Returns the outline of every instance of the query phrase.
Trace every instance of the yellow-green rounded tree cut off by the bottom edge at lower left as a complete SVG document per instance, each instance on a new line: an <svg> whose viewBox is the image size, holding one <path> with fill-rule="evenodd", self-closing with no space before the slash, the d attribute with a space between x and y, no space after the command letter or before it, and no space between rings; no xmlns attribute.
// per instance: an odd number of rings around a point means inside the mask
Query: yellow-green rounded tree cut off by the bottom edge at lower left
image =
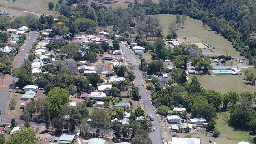
<svg viewBox="0 0 256 144"><path fill-rule="evenodd" d="M34 144L37 141L36 132L30 127L21 127L13 133L5 144Z"/></svg>

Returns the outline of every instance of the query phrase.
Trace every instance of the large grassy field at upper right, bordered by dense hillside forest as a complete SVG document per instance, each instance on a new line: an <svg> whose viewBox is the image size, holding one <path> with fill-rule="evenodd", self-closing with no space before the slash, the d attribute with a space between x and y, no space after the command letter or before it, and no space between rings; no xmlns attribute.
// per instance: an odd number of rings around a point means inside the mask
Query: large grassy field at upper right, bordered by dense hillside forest
<svg viewBox="0 0 256 144"><path fill-rule="evenodd" d="M169 31L170 21L174 21L176 15L157 15L163 26L163 35L166 36ZM227 54L233 57L241 57L239 52L236 51L231 42L226 40L224 37L216 34L214 31L210 31L209 28L206 30L202 27L202 21L194 20L193 18L187 17L184 28L180 28L177 31L178 38L181 42L186 43L200 43L202 41L210 44L211 47L215 47L215 54ZM183 39L186 36L187 39Z"/></svg>

